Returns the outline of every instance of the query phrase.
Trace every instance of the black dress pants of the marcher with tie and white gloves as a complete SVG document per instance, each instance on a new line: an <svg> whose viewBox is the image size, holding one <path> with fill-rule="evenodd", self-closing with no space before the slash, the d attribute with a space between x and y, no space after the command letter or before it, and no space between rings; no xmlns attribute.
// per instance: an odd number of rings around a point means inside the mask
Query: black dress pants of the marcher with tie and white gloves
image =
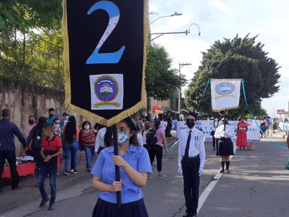
<svg viewBox="0 0 289 217"><path fill-rule="evenodd" d="M197 215L199 203L199 185L200 185L200 158L198 157L188 161L181 160L181 166L184 176L184 195L186 200L186 213L189 216Z"/></svg>

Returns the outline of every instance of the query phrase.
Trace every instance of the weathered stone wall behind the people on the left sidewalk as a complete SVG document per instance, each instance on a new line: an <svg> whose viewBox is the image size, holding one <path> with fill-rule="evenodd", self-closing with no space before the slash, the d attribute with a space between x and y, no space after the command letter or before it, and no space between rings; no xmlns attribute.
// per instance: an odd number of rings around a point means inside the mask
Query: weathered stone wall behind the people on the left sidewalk
<svg viewBox="0 0 289 217"><path fill-rule="evenodd" d="M64 91L0 76L0 109L1 111L4 108L11 110L11 121L19 127L21 132L23 132L24 125L28 124L29 115L34 115L36 120L40 116L47 117L48 109L51 107L55 108L59 115L62 115L64 111L75 115L77 125L80 126L86 118L67 111L64 108L64 98ZM16 155L19 155L20 142L17 138L15 138L15 146Z"/></svg>

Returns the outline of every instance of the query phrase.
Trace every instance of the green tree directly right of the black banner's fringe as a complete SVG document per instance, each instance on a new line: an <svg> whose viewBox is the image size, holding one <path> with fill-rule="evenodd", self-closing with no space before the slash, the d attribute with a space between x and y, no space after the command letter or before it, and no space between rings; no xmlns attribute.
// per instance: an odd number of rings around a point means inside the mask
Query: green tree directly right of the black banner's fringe
<svg viewBox="0 0 289 217"><path fill-rule="evenodd" d="M145 81L147 95L158 100L167 100L173 96L176 87L182 87L187 80L179 77L176 69L171 68L172 59L166 49L160 45L147 45L147 66Z"/></svg>

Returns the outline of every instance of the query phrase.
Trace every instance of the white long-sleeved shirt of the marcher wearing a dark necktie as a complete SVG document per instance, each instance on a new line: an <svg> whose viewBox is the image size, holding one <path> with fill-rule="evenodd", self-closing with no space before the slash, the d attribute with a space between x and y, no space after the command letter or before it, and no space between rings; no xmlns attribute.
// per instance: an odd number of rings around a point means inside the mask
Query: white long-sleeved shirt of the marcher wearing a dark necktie
<svg viewBox="0 0 289 217"><path fill-rule="evenodd" d="M190 132L190 128L187 128L180 132L179 158L178 158L179 167L181 167L181 160L185 156L185 150L186 150L189 132ZM198 148L195 147L195 142L198 143ZM204 167L204 164L206 161L206 153L205 153L205 146L204 146L204 141L203 141L203 132L201 132L201 130L198 130L196 128L192 128L190 147L189 147L189 157L195 157L197 155L200 155L200 167Z"/></svg>

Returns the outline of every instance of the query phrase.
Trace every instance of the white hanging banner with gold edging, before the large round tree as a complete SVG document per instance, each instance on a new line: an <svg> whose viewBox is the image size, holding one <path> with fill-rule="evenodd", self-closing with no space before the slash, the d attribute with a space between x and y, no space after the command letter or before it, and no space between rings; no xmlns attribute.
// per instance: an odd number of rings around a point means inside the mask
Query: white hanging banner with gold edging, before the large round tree
<svg viewBox="0 0 289 217"><path fill-rule="evenodd" d="M239 107L242 79L211 79L212 110L219 112Z"/></svg>

